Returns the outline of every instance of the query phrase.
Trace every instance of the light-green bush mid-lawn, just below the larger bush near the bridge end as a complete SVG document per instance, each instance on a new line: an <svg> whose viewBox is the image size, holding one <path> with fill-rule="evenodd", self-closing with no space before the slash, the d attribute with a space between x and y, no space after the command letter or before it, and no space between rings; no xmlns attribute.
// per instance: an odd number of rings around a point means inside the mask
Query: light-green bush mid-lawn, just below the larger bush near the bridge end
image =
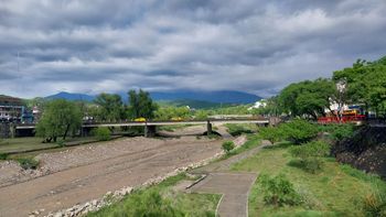
<svg viewBox="0 0 386 217"><path fill-rule="evenodd" d="M330 144L322 141L313 141L301 147L291 147L289 152L292 156L300 159L302 169L310 173L317 173L323 169L321 158L330 154Z"/></svg>

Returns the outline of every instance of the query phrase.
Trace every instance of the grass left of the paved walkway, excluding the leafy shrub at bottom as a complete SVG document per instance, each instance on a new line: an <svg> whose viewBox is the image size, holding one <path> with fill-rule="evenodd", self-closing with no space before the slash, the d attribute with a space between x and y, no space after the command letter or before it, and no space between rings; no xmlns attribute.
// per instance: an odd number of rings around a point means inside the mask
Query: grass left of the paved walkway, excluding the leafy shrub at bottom
<svg viewBox="0 0 386 217"><path fill-rule="evenodd" d="M149 195L152 194L161 195L163 200L168 202L172 208L181 210L184 216L214 217L221 196L213 194L185 194L173 189L173 186L183 180L189 180L189 177L184 174L180 174L167 178L158 185L144 189L138 189L118 203L104 207L98 211L89 213L87 217L136 216L136 211L141 208L141 206L144 204L149 206L149 202L147 200L151 199L149 198ZM158 203L161 204L160 200Z"/></svg>

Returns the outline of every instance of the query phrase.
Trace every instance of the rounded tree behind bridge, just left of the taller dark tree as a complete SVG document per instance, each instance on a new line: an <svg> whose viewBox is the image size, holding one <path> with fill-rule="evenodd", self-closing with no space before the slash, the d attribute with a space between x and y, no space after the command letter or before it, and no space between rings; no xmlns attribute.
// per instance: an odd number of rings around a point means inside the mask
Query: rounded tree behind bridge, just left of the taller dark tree
<svg viewBox="0 0 386 217"><path fill-rule="evenodd" d="M101 121L119 121L124 117L124 102L119 95L100 94L94 100L98 105L97 119Z"/></svg>

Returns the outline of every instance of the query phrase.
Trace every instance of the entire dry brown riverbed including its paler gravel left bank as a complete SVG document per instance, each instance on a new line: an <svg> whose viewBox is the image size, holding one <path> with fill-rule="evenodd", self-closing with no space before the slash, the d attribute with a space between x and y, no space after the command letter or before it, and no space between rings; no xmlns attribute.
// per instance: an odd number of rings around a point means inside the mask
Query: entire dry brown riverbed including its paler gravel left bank
<svg viewBox="0 0 386 217"><path fill-rule="evenodd" d="M0 216L71 207L124 186L138 186L176 167L213 156L222 140L129 138L37 155L37 172L0 164Z"/></svg>

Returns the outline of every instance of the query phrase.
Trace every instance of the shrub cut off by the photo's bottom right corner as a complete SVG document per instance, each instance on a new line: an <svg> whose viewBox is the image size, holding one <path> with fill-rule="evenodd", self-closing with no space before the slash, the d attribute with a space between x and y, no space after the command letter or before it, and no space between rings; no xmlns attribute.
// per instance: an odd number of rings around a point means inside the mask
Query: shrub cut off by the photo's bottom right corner
<svg viewBox="0 0 386 217"><path fill-rule="evenodd" d="M366 195L363 198L363 211L366 216L386 216L386 189Z"/></svg>

